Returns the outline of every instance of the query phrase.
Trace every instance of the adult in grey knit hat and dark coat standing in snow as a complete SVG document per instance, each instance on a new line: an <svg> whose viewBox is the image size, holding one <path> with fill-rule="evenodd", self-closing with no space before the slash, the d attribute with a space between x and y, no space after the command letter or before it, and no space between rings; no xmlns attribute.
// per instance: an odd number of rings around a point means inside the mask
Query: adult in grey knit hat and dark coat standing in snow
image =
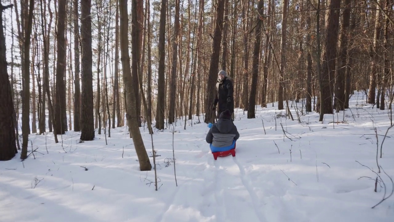
<svg viewBox="0 0 394 222"><path fill-rule="evenodd" d="M224 70L220 70L217 75L217 95L214 100L214 104L212 105L213 110L216 110L216 104L218 103L216 114L217 119L219 119L219 116L223 111L228 109L231 113L231 120L234 121L234 89L232 87L231 78Z"/></svg>

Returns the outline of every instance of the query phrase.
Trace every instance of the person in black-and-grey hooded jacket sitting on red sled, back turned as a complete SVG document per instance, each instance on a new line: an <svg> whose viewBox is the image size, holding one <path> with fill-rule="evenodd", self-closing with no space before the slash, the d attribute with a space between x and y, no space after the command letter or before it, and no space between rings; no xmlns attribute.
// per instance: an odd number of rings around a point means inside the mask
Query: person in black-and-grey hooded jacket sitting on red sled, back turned
<svg viewBox="0 0 394 222"><path fill-rule="evenodd" d="M231 113L226 109L220 114L219 120L212 125L205 140L210 144L212 152L221 152L233 149L239 137L237 127L231 120Z"/></svg>

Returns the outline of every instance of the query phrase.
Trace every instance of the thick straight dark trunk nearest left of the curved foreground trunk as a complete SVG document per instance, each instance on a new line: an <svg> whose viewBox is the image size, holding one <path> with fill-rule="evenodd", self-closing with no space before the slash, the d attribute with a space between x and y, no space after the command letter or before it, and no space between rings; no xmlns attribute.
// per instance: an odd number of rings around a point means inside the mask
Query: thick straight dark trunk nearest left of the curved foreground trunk
<svg viewBox="0 0 394 222"><path fill-rule="evenodd" d="M82 141L89 141L95 138L95 125L93 119L92 19L90 10L91 0L81 0Z"/></svg>

